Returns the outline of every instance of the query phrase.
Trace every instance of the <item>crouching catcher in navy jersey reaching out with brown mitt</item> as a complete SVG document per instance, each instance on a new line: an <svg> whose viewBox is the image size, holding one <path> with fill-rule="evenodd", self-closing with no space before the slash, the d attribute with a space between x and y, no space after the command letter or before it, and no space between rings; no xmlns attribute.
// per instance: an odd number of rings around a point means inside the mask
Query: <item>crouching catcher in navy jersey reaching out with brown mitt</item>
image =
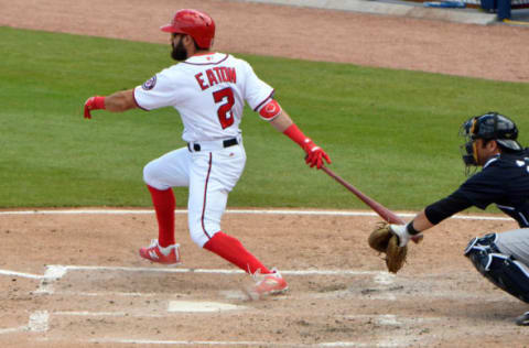
<svg viewBox="0 0 529 348"><path fill-rule="evenodd" d="M471 166L483 170L446 198L427 206L410 222L377 227L369 243L378 251L388 251L388 269L391 265L397 272L413 236L422 236L422 231L472 206L485 209L494 203L520 228L476 237L464 254L493 284L529 303L529 148L517 142L515 122L497 112L472 117L460 133L465 137L462 152L466 173ZM398 244L392 249L390 238ZM529 312L516 323L529 325Z"/></svg>

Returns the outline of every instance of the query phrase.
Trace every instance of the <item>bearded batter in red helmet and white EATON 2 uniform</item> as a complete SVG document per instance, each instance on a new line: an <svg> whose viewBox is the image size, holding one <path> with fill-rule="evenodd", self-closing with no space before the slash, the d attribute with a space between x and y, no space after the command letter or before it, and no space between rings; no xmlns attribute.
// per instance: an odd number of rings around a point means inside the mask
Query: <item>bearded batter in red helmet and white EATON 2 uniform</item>
<svg viewBox="0 0 529 348"><path fill-rule="evenodd" d="M120 112L133 108L175 108L183 121L186 146L169 152L143 168L159 225L159 238L140 249L152 262L177 264L180 246L174 237L175 198L172 187L187 186L188 229L201 248L218 254L255 275L255 296L280 293L288 284L276 269L268 269L236 238L222 231L220 219L228 193L246 163L239 123L247 102L278 131L296 142L311 167L321 168L328 155L306 138L273 99L274 90L259 79L251 66L229 54L212 52L215 22L197 10L177 11L161 28L171 34L171 56L180 62L155 74L143 85L85 102L90 111Z"/></svg>

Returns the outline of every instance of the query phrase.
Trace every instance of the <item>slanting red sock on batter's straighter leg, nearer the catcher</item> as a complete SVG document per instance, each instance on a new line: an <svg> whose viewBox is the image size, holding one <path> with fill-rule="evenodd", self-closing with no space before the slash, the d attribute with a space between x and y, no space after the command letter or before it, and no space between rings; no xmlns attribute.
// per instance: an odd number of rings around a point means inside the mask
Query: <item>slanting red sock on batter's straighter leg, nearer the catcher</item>
<svg viewBox="0 0 529 348"><path fill-rule="evenodd" d="M240 241L223 231L218 231L209 239L204 249L216 253L226 261L231 262L245 272L256 273L260 270L262 274L271 273L255 255L252 255Z"/></svg>

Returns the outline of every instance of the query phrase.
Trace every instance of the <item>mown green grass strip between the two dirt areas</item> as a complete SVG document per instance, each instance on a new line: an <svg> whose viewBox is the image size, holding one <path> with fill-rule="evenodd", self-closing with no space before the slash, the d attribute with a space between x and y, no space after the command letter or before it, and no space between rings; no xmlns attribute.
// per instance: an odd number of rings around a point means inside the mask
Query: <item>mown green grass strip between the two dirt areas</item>
<svg viewBox="0 0 529 348"><path fill-rule="evenodd" d="M177 113L95 111L87 121L82 109L171 65L168 45L0 28L0 207L150 206L142 167L184 145ZM463 182L457 130L471 116L511 116L527 143L527 84L238 56L334 172L392 209L420 209ZM365 208L249 109L241 128L248 162L229 206ZM175 193L186 206L186 189Z"/></svg>

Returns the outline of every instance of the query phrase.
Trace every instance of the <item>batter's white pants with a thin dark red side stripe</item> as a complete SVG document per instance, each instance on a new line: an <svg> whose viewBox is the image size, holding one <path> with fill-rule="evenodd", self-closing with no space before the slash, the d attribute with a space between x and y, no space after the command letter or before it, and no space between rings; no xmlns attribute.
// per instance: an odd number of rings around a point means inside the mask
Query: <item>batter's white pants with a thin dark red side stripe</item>
<svg viewBox="0 0 529 348"><path fill-rule="evenodd" d="M239 144L229 148L222 141L201 144L201 151L181 148L151 161L143 168L143 181L161 191L190 188L187 224L191 238L202 248L220 231L228 194L242 174L246 152L240 138Z"/></svg>

